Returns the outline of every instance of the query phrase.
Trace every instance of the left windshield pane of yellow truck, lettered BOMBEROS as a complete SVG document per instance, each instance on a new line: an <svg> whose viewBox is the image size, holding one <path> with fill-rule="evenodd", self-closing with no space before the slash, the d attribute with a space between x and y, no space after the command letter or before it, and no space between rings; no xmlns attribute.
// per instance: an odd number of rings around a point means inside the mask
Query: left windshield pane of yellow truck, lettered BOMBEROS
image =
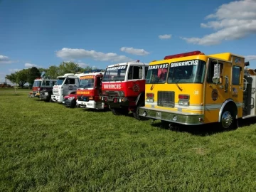
<svg viewBox="0 0 256 192"><path fill-rule="evenodd" d="M167 68L161 68L161 65L162 66L167 65ZM146 74L146 84L152 84L152 83L164 84L164 83L166 83L168 69L169 69L169 63L160 63L160 64L156 64L156 65L149 65L149 68L148 68L147 74Z"/></svg>

